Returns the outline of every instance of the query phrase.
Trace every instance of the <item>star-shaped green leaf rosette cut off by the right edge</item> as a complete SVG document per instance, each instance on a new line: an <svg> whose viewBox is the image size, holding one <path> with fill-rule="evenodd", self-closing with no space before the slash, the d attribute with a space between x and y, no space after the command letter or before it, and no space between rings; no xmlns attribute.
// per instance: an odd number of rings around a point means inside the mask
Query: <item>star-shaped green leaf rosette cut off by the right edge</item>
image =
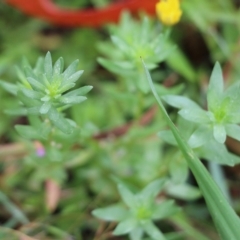
<svg viewBox="0 0 240 240"><path fill-rule="evenodd" d="M208 86L208 111L202 110L198 104L182 96L164 96L171 106L180 108L178 112L184 119L198 124L190 136L189 144L200 147L208 141L219 143L226 141L226 136L240 140L239 118L239 82L223 92L223 77L219 63L216 63Z"/></svg>

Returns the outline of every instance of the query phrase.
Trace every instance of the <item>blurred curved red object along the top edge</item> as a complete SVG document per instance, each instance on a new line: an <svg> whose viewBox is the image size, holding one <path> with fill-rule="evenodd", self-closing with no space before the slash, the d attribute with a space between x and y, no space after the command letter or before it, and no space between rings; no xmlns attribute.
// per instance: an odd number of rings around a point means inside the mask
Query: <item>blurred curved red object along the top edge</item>
<svg viewBox="0 0 240 240"><path fill-rule="evenodd" d="M51 0L5 1L28 15L64 27L100 27L105 23L117 22L123 10L155 14L155 4L159 2L159 0L122 0L103 9L70 10L59 8Z"/></svg>

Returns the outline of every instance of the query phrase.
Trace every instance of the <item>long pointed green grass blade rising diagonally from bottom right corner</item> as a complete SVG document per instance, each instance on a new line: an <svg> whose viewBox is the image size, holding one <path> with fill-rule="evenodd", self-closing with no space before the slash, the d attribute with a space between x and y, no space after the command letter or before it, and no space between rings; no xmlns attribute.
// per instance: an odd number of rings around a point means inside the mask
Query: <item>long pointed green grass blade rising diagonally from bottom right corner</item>
<svg viewBox="0 0 240 240"><path fill-rule="evenodd" d="M143 62L144 65L144 62ZM145 67L145 65L144 65ZM155 96L160 109L162 110L163 116L167 121L169 127L171 128L176 141L182 151L188 165L193 172L199 187L203 193L203 196L208 205L208 209L213 217L214 223L218 229L218 232L223 240L238 240L240 238L240 220L236 213L233 211L229 203L227 202L225 196L213 181L210 174L203 166L201 161L195 156L192 149L188 146L186 141L181 137L176 126L173 124L172 120L168 116L160 98L158 97L154 85L152 83L151 76L145 67L147 79L149 81L150 87L152 89L153 95Z"/></svg>

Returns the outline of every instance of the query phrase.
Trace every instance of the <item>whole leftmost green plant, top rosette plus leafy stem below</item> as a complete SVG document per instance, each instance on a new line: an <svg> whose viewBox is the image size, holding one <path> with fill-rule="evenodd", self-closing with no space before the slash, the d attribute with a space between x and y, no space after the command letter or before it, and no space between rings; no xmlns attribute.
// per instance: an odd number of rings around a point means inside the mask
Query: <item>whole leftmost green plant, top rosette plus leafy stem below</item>
<svg viewBox="0 0 240 240"><path fill-rule="evenodd" d="M19 83L1 81L1 85L21 104L7 113L28 117L29 125L16 125L17 132L25 139L40 141L36 150L32 149L32 154L26 158L26 163L34 169L34 178L39 181L51 178L62 182L66 178L63 165L77 155L71 148L78 141L80 129L64 116L63 111L86 100L83 95L92 89L84 86L70 90L83 73L77 70L77 66L78 60L63 71L62 58L52 66L48 52L45 59L38 59L33 69L27 61L23 62L22 69L17 69Z"/></svg>

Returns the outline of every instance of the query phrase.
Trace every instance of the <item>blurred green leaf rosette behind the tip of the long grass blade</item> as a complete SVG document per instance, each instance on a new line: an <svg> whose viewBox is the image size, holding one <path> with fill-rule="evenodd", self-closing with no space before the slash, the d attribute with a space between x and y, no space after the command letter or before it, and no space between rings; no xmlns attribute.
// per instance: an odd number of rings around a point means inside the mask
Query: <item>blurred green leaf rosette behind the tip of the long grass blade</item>
<svg viewBox="0 0 240 240"><path fill-rule="evenodd" d="M110 27L110 34L111 44L99 44L101 52L110 59L98 58L98 62L121 77L128 91L149 92L139 56L146 59L149 69L155 69L174 49L168 42L169 31L159 33L148 17L142 16L139 23L125 12L120 24Z"/></svg>

